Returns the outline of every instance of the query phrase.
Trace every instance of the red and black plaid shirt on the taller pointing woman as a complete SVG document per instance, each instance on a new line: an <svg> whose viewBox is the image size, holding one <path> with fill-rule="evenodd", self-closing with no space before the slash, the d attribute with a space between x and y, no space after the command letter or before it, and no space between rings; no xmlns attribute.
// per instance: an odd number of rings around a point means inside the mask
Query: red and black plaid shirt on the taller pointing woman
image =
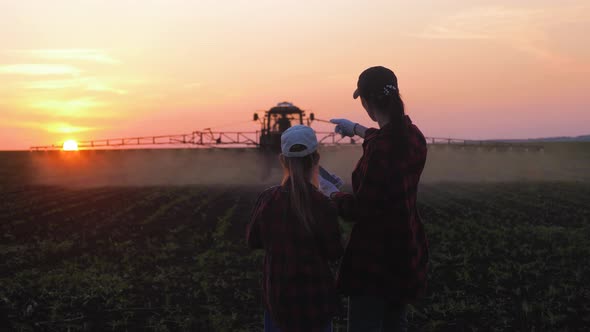
<svg viewBox="0 0 590 332"><path fill-rule="evenodd" d="M353 194L332 195L339 214L355 222L338 273L345 295L407 303L426 289L428 241L416 208L426 140L407 116L405 125L406 143L391 123L368 129Z"/></svg>

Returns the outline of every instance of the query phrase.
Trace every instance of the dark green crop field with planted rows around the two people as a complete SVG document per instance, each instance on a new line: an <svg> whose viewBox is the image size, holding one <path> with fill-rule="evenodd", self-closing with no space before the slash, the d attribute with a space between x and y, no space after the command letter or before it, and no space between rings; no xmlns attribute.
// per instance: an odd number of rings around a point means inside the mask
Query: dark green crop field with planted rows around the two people
<svg viewBox="0 0 590 332"><path fill-rule="evenodd" d="M262 329L263 252L244 233L266 184L39 184L15 156L0 159L0 329ZM589 202L580 176L425 181L430 285L411 330L588 330Z"/></svg>

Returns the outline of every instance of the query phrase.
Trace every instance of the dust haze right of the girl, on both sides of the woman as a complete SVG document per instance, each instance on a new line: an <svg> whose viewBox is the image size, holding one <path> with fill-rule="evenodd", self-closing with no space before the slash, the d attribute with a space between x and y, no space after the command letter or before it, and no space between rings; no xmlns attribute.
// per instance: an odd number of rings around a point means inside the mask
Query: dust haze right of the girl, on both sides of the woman
<svg viewBox="0 0 590 332"><path fill-rule="evenodd" d="M542 151L488 150L447 144L428 146L421 182L590 182L590 143L546 143ZM328 169L350 183L360 147L330 147L322 154Z"/></svg>

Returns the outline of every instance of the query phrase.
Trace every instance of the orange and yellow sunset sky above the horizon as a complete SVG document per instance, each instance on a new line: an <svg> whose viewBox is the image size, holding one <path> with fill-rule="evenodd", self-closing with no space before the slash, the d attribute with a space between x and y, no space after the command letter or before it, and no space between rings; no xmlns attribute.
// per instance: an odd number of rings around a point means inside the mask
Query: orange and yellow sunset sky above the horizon
<svg viewBox="0 0 590 332"><path fill-rule="evenodd" d="M590 3L513 3L2 1L0 150L254 131L283 100L369 125L372 65L427 136L590 134Z"/></svg>

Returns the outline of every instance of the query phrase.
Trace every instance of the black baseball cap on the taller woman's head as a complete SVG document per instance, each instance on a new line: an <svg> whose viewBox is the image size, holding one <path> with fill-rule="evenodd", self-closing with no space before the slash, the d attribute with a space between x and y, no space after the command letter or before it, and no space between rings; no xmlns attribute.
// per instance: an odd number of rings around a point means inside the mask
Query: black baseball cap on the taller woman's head
<svg viewBox="0 0 590 332"><path fill-rule="evenodd" d="M375 66L365 69L356 83L356 90L352 94L354 99L359 96L388 95L392 90L398 90L397 77L388 68Z"/></svg>

